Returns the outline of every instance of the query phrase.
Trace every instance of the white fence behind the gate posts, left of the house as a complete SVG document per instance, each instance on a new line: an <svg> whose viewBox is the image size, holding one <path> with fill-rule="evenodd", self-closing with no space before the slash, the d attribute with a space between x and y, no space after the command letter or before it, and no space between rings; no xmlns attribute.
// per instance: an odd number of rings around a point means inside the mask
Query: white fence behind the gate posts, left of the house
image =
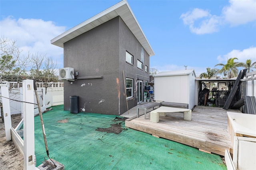
<svg viewBox="0 0 256 170"><path fill-rule="evenodd" d="M11 115L22 113L22 83L15 84L15 82L8 82L8 87L15 87L11 88L9 91L9 97L10 97L10 111ZM51 83L49 83L51 84ZM64 103L64 83L53 83L51 87L48 87L46 89L46 95L43 95L43 91L45 93L45 87L43 87L43 83L36 83L38 96L40 105L51 105L51 106L57 106L57 105L63 105ZM35 96L35 94L34 94ZM43 100L43 98L45 98ZM2 99L0 99L2 100ZM34 103L36 103L36 98L34 97ZM37 106L34 105L34 108Z"/></svg>

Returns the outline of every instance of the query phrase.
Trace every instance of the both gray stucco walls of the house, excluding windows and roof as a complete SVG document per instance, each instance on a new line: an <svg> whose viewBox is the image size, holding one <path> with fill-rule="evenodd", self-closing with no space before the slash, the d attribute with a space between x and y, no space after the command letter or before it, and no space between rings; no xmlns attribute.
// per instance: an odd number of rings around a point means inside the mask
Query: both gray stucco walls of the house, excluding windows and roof
<svg viewBox="0 0 256 170"><path fill-rule="evenodd" d="M102 79L78 79L64 82L64 110L70 110L70 96L79 97L79 111L121 115L127 111L125 78L132 78L133 98L128 107L137 105L136 78L149 81L149 55L123 20L118 16L66 43L64 67L74 67L79 77L103 76ZM126 51L134 56L134 65L126 63ZM137 68L143 60L143 70ZM137 74L137 75L136 75ZM142 75L142 76L139 76Z"/></svg>

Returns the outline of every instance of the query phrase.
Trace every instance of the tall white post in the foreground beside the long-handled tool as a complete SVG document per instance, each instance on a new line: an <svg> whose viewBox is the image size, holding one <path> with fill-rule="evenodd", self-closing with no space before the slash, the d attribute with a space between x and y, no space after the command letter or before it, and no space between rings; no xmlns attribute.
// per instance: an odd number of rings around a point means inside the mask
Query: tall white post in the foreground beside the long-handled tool
<svg viewBox="0 0 256 170"><path fill-rule="evenodd" d="M34 81L23 81L23 138L24 138L24 170L35 169L34 145ZM28 103L25 103L28 102ZM32 103L32 104L31 104Z"/></svg>

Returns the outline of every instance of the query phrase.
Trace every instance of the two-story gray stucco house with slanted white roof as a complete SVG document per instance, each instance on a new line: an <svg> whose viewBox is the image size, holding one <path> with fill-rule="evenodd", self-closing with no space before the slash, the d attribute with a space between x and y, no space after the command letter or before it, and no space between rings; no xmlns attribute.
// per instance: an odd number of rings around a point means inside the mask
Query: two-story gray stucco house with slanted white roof
<svg viewBox="0 0 256 170"><path fill-rule="evenodd" d="M74 81L64 81L64 110L70 96L78 96L79 111L108 115L127 111L126 95L129 109L143 101L154 51L126 0L51 43L64 48L64 67L74 68Z"/></svg>

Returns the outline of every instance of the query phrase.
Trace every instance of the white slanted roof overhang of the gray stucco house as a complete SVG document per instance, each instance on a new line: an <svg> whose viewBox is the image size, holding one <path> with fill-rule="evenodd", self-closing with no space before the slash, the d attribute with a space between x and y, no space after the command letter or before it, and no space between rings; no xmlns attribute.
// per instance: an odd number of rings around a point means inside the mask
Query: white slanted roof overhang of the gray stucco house
<svg viewBox="0 0 256 170"><path fill-rule="evenodd" d="M96 16L78 24L77 26L71 28L70 30L60 34L56 38L51 40L51 43L59 47L64 47L64 43L69 40L88 32L89 30L103 24L117 16L120 16L124 23L131 30L132 34L137 38L142 47L147 51L149 56L155 55L153 49L151 48L146 36L144 35L138 21L136 20L128 2L122 0L121 2L115 4L114 6L100 12Z"/></svg>

